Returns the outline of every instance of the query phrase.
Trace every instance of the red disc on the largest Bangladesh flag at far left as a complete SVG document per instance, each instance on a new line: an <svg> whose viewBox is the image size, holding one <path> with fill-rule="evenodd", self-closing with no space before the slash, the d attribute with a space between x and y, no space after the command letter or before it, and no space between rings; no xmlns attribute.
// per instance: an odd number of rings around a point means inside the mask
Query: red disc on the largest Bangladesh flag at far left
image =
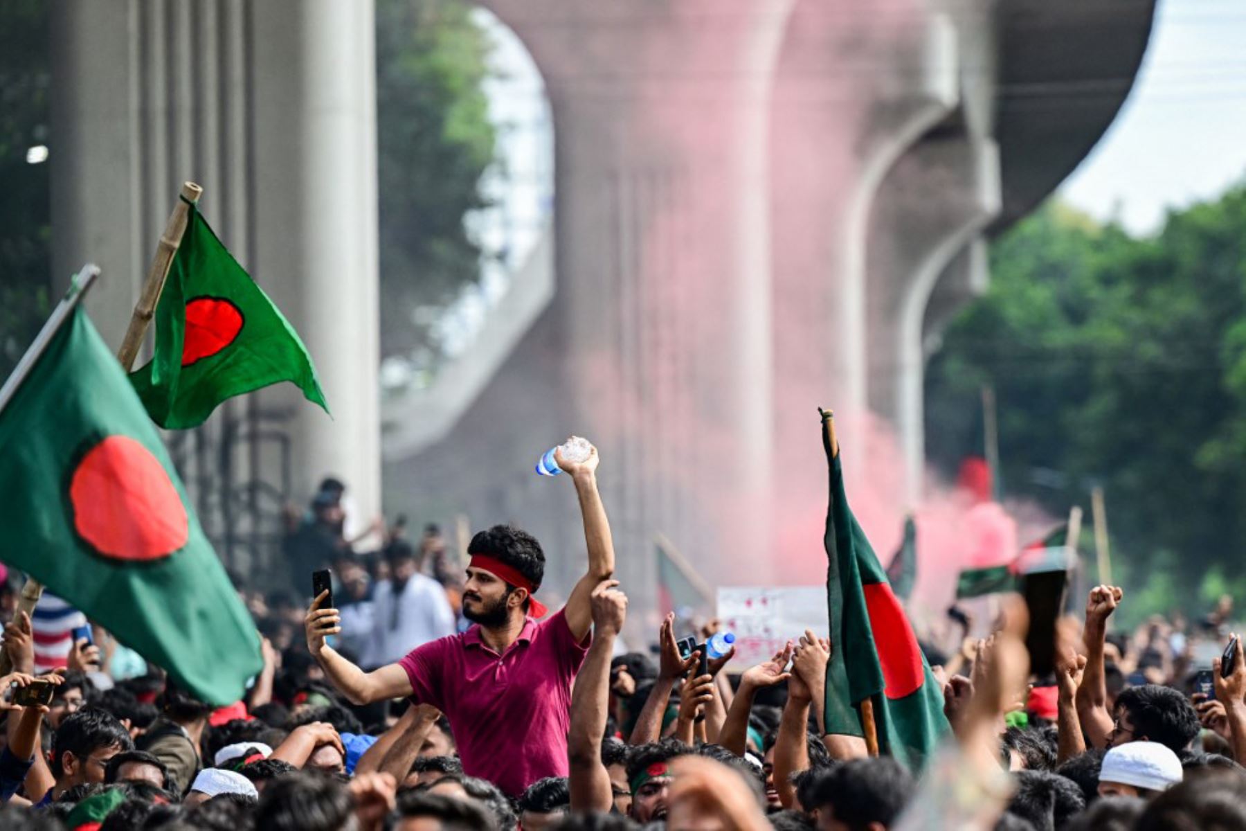
<svg viewBox="0 0 1246 831"><path fill-rule="evenodd" d="M150 561L186 544L191 526L164 466L130 436L91 447L70 480L74 529L105 557Z"/></svg>

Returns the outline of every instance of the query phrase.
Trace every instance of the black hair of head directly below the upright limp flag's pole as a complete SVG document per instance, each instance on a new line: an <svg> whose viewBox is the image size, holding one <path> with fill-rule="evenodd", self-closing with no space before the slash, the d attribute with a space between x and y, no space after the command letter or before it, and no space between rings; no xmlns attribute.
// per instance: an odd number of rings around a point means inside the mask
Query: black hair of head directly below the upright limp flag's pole
<svg viewBox="0 0 1246 831"><path fill-rule="evenodd" d="M903 811L915 787L912 775L891 756L851 759L817 777L809 807L830 806L850 831L865 831L871 822L886 827Z"/></svg>

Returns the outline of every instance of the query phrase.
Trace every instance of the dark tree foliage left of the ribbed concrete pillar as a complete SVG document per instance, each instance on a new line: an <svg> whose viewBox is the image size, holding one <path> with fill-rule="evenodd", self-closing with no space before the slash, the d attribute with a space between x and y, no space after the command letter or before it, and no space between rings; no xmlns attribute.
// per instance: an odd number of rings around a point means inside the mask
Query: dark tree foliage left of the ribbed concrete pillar
<svg viewBox="0 0 1246 831"><path fill-rule="evenodd" d="M51 204L47 164L26 151L47 140L47 4L0 4L0 379L49 313Z"/></svg>

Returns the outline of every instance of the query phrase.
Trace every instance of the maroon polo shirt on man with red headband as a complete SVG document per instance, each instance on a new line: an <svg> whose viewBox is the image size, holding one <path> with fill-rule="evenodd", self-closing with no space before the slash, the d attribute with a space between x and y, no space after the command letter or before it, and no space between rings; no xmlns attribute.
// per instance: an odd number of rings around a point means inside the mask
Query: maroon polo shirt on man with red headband
<svg viewBox="0 0 1246 831"><path fill-rule="evenodd" d="M411 698L450 719L464 772L520 796L546 776L566 776L571 683L592 637L576 643L563 612L528 618L501 655L480 625L426 643L399 662Z"/></svg>

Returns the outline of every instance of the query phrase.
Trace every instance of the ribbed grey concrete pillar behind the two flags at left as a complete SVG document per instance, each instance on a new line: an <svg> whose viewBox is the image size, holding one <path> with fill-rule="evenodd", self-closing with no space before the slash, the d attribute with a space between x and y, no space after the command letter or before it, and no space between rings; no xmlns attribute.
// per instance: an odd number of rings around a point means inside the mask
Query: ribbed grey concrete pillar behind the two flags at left
<svg viewBox="0 0 1246 831"><path fill-rule="evenodd" d="M57 284L100 263L88 308L118 344L178 187L194 179L204 216L312 351L334 412L272 387L171 434L197 449L183 467L192 493L221 472L211 441L263 402L293 437L290 496L334 472L361 512L380 506L373 42L370 0L52 4ZM231 463L243 477L278 467Z"/></svg>

